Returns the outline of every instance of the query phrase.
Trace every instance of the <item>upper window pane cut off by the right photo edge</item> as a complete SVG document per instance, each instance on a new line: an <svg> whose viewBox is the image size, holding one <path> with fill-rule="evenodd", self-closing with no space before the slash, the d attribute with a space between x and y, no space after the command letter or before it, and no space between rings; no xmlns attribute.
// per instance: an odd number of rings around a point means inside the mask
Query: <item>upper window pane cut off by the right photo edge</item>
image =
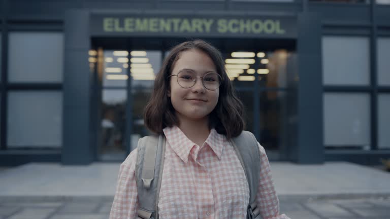
<svg viewBox="0 0 390 219"><path fill-rule="evenodd" d="M390 38L379 38L377 41L377 71L378 71L378 85L390 85Z"/></svg>

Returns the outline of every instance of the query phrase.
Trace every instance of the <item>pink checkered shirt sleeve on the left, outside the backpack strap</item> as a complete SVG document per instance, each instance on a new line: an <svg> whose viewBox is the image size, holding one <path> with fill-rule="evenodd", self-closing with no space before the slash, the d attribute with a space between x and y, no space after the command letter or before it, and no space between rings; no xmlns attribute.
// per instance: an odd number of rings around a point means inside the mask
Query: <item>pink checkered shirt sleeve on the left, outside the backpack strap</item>
<svg viewBox="0 0 390 219"><path fill-rule="evenodd" d="M138 192L135 176L137 155L138 149L135 149L120 165L110 219L133 219L137 216Z"/></svg>

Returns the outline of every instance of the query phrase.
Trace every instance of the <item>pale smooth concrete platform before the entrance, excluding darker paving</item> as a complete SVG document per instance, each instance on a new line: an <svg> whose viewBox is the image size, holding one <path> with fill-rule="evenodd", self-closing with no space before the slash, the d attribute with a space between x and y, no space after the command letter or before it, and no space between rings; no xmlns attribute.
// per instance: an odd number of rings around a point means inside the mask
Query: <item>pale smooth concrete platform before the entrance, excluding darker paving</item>
<svg viewBox="0 0 390 219"><path fill-rule="evenodd" d="M81 198L115 193L119 163L88 166L30 163L0 171L0 197ZM361 165L271 163L281 199L390 195L390 173Z"/></svg>

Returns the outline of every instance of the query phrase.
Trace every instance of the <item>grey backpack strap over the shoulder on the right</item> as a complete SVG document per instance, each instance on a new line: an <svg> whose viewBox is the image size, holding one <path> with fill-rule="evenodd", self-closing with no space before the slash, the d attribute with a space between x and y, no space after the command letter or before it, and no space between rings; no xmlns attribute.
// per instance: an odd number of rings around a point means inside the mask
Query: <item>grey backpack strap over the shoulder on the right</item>
<svg viewBox="0 0 390 219"><path fill-rule="evenodd" d="M257 140L251 132L242 131L241 134L231 140L237 157L239 158L242 167L244 168L245 176L249 186L249 205L247 209L248 219L262 218L260 209L257 208L256 194L258 179L261 168L260 151L258 149Z"/></svg>

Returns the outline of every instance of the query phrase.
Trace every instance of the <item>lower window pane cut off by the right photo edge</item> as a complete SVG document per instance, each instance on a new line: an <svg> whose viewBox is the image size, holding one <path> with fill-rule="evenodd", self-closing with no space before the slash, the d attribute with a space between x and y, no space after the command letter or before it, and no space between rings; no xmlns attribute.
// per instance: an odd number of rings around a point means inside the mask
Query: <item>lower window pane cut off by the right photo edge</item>
<svg viewBox="0 0 390 219"><path fill-rule="evenodd" d="M378 148L390 149L390 94L378 96Z"/></svg>

